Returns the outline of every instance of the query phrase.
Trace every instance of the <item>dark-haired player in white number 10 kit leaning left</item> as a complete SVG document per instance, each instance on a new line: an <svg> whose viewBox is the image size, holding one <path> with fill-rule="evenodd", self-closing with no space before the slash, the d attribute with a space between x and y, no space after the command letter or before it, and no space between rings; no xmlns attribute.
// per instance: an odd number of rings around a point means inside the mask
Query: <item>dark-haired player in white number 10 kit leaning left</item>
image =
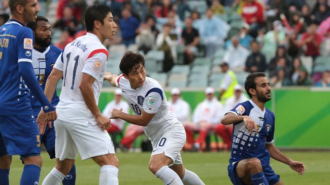
<svg viewBox="0 0 330 185"><path fill-rule="evenodd" d="M121 75L107 73L105 80L123 91L135 115L114 109L111 118L144 126L153 151L149 169L164 184L204 184L194 173L184 168L180 151L186 141L182 123L171 113L160 84L146 77L144 58L139 53L127 52L121 59Z"/></svg>

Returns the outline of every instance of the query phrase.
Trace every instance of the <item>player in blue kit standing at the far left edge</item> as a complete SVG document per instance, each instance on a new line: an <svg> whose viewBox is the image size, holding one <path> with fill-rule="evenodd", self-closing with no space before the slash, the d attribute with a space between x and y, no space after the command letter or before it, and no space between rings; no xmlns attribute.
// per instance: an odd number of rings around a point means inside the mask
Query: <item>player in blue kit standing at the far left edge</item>
<svg viewBox="0 0 330 185"><path fill-rule="evenodd" d="M38 184L42 159L40 135L29 100L30 91L46 111L57 115L36 80L31 64L33 34L25 27L37 18L36 0L10 0L10 20L0 27L0 183L9 184L12 155L20 155L24 169L20 184Z"/></svg>

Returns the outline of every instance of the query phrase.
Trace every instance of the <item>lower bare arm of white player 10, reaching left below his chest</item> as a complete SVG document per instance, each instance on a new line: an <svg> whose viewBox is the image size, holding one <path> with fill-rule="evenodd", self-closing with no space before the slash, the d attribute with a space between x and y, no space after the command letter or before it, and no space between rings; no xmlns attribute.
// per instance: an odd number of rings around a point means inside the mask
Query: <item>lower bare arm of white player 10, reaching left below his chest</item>
<svg viewBox="0 0 330 185"><path fill-rule="evenodd" d="M111 119L122 119L127 121L128 123L140 125L140 126L147 126L151 119L155 116L155 114L146 113L142 110L141 115L130 115L122 112L122 109L117 110L113 109L111 113Z"/></svg>

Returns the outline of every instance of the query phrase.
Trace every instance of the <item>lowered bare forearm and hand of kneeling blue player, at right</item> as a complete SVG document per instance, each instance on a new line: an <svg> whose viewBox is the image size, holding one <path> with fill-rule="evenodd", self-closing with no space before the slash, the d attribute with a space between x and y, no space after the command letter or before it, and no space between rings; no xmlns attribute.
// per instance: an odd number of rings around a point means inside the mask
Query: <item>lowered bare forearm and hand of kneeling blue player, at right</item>
<svg viewBox="0 0 330 185"><path fill-rule="evenodd" d="M266 147L271 154L271 157L277 161L287 164L294 171L302 175L306 169L304 163L299 161L292 161L290 158L286 157L280 150L278 150L273 144L266 144Z"/></svg>

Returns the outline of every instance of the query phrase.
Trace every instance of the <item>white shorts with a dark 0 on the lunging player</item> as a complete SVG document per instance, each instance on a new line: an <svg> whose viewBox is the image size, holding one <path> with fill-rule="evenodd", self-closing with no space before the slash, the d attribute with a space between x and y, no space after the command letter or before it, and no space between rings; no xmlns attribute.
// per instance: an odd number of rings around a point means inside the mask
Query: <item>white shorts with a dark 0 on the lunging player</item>
<svg viewBox="0 0 330 185"><path fill-rule="evenodd" d="M186 143L186 132L181 122L163 131L157 143L152 143L151 156L162 154L172 159L172 164L182 164L181 150ZM171 166L170 165L170 166Z"/></svg>

